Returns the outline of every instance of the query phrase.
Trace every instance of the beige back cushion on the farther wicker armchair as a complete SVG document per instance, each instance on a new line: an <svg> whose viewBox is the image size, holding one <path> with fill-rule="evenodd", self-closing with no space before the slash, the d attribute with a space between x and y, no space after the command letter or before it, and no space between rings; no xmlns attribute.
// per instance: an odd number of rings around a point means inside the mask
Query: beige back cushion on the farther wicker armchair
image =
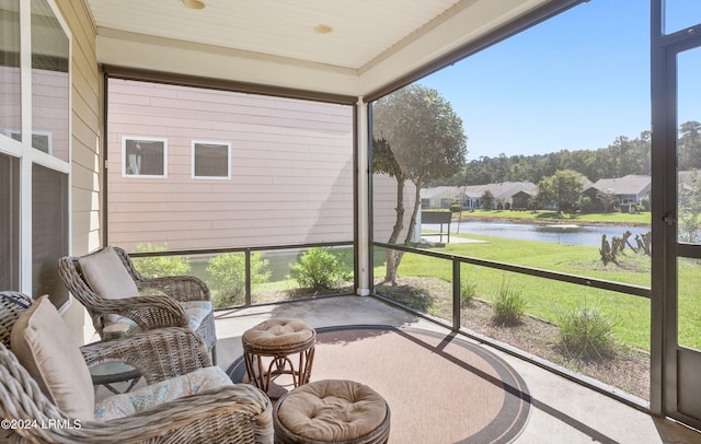
<svg viewBox="0 0 701 444"><path fill-rule="evenodd" d="M139 290L112 247L78 259L92 290L104 299L136 297Z"/></svg>

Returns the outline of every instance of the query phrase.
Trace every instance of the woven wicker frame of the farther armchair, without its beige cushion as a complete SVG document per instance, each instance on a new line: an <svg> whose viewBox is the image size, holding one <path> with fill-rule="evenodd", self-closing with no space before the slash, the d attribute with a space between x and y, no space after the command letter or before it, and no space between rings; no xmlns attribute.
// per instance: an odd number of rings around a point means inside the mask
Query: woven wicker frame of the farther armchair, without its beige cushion
<svg viewBox="0 0 701 444"><path fill-rule="evenodd" d="M89 283L90 280L87 279L81 262L106 253L107 249L114 250L118 256L119 261L141 295L138 297L110 299L93 290L93 285ZM217 362L217 335L211 309L211 296L209 289L200 279L193 276L145 278L136 270L129 255L124 249L113 246L85 256L62 257L58 260L58 271L68 290L88 309L93 326L101 338L104 338L104 327L110 324L110 319L115 319L115 317L130 319L142 331L163 327L187 327L191 326L191 319L186 313L187 304L208 303L208 313L194 330L211 352L212 362ZM115 271L124 272L123 270Z"/></svg>

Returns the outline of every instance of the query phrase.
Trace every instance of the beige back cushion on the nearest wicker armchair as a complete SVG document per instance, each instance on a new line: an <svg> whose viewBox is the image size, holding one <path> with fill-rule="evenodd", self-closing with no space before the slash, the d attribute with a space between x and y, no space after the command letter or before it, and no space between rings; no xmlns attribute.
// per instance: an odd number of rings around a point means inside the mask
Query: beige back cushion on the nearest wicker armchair
<svg viewBox="0 0 701 444"><path fill-rule="evenodd" d="M12 351L42 392L71 418L92 420L95 395L88 365L66 323L42 296L12 327Z"/></svg>

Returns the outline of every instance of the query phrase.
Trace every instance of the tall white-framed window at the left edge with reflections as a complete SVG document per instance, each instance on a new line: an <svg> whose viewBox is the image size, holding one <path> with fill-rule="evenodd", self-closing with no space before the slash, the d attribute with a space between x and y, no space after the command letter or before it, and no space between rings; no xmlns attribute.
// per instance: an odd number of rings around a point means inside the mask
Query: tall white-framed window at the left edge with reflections
<svg viewBox="0 0 701 444"><path fill-rule="evenodd" d="M0 289L48 294L62 309L70 297L56 261L70 253L71 45L53 3L0 2Z"/></svg>

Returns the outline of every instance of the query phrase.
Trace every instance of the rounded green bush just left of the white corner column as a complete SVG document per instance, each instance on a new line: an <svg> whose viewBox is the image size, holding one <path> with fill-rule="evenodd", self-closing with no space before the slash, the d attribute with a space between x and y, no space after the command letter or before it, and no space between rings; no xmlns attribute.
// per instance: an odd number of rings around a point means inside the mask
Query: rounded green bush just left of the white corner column
<svg viewBox="0 0 701 444"><path fill-rule="evenodd" d="M335 289L353 279L353 272L330 248L309 248L291 267L292 278L300 288Z"/></svg>

